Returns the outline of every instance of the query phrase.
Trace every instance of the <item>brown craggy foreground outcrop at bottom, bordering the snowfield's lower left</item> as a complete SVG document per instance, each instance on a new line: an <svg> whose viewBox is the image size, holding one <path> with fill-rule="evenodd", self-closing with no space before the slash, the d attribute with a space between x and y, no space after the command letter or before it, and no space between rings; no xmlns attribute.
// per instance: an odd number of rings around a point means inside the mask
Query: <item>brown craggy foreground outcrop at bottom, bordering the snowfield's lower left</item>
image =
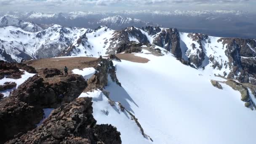
<svg viewBox="0 0 256 144"><path fill-rule="evenodd" d="M112 125L95 126L91 99L63 104L42 125L6 144L121 144L120 133Z"/></svg>

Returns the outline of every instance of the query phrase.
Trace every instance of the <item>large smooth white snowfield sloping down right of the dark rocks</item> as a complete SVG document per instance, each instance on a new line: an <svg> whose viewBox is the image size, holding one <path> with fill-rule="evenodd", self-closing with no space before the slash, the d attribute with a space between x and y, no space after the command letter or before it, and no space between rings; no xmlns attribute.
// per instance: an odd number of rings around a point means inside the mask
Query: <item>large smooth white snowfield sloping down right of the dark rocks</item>
<svg viewBox="0 0 256 144"><path fill-rule="evenodd" d="M80 96L93 97L97 123L116 126L123 144L254 143L256 113L244 106L239 91L223 83L220 90L210 82L224 79L183 65L171 55L136 55L150 61L113 61L122 87L109 81L105 90L115 106L99 90ZM153 142L141 135L117 101L138 118Z"/></svg>

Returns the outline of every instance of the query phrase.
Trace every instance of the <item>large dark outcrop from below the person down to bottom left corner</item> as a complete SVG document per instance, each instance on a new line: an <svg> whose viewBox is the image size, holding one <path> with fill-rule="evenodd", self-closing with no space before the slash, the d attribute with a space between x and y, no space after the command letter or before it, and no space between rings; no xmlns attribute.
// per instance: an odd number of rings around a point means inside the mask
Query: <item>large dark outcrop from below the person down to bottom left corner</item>
<svg viewBox="0 0 256 144"><path fill-rule="evenodd" d="M57 108L75 100L86 88L81 75L55 77L51 83L35 75L0 101L0 123L4 124L0 141L13 138L35 128L43 118L43 108Z"/></svg>

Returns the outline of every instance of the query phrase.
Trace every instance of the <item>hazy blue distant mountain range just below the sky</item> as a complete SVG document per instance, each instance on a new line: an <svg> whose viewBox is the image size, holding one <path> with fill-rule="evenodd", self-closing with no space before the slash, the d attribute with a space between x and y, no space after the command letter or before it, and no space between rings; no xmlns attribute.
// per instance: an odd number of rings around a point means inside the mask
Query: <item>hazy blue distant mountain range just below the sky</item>
<svg viewBox="0 0 256 144"><path fill-rule="evenodd" d="M181 32L198 32L216 37L256 37L256 14L244 11L73 11L68 13L0 12L35 24L59 24L64 27L111 29L125 27L176 27Z"/></svg>

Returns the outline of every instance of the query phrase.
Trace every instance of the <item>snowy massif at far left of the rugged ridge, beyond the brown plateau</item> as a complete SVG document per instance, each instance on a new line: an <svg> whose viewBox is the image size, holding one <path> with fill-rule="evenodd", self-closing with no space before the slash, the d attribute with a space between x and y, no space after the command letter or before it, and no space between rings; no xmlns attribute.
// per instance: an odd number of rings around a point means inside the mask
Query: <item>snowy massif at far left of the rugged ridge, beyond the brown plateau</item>
<svg viewBox="0 0 256 144"><path fill-rule="evenodd" d="M3 27L0 28L0 48L16 61L53 57L77 40L85 31L86 29L83 28L64 28L60 25L53 25L40 32L26 32L12 26Z"/></svg>

